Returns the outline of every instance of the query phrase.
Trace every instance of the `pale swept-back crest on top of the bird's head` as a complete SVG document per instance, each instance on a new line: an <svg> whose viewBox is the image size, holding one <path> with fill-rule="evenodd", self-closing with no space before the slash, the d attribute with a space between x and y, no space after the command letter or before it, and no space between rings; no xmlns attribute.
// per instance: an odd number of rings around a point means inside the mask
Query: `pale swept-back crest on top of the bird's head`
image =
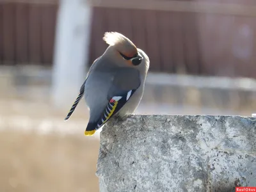
<svg viewBox="0 0 256 192"><path fill-rule="evenodd" d="M117 51L122 52L127 57L132 57L137 54L137 47L126 36L117 32L106 32L103 40L111 45L115 46Z"/></svg>

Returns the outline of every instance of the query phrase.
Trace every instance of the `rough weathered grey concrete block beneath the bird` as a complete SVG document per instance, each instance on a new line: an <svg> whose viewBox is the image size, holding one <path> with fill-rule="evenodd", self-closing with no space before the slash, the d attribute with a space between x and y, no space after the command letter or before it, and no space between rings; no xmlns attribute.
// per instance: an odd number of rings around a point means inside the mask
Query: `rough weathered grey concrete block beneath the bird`
<svg viewBox="0 0 256 192"><path fill-rule="evenodd" d="M100 133L100 192L256 186L256 118L131 115Z"/></svg>

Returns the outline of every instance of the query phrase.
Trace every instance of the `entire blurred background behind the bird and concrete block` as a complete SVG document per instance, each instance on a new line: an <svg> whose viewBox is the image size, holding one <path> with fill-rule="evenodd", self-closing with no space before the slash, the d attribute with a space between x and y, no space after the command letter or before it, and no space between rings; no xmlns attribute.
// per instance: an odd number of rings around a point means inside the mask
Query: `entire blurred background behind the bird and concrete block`
<svg viewBox="0 0 256 192"><path fill-rule="evenodd" d="M118 31L150 58L136 113L256 111L255 0L0 0L0 191L99 191L77 97Z"/></svg>

